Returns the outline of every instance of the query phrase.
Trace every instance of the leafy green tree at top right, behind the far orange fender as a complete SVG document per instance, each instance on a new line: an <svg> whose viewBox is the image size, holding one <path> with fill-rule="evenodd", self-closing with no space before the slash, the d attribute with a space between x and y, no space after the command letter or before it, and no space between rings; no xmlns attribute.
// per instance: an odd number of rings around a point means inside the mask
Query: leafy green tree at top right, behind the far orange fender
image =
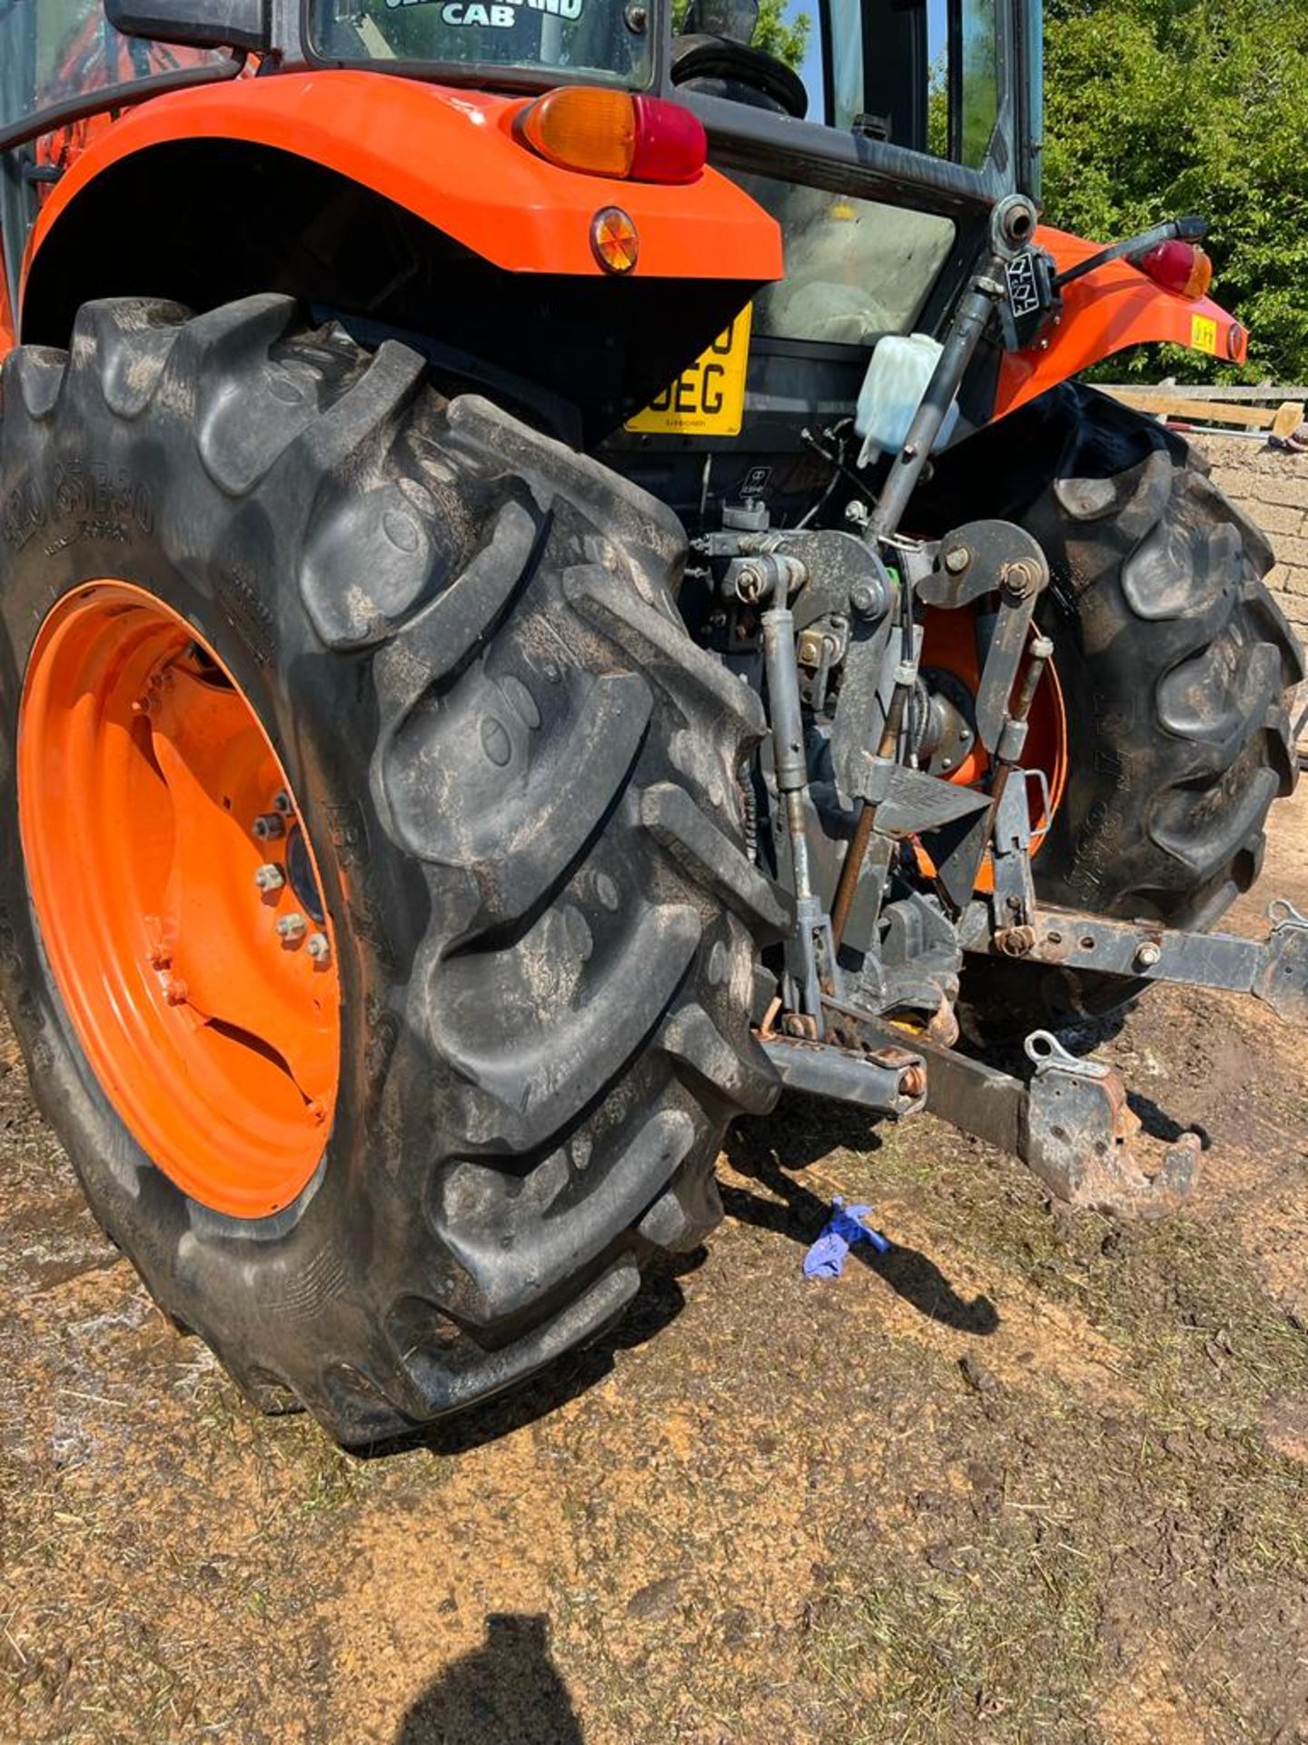
<svg viewBox="0 0 1308 1745"><path fill-rule="evenodd" d="M1107 241L1203 213L1245 377L1308 380L1308 0L1050 0L1045 77L1050 223ZM1235 373L1153 347L1123 366Z"/></svg>

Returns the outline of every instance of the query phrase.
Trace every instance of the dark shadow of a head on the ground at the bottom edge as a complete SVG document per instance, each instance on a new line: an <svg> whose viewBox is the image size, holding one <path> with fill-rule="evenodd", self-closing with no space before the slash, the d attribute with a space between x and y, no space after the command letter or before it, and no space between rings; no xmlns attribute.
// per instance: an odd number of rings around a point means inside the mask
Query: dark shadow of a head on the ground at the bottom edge
<svg viewBox="0 0 1308 1745"><path fill-rule="evenodd" d="M492 1612L487 1639L433 1679L399 1722L394 1745L584 1745L549 1619Z"/></svg>

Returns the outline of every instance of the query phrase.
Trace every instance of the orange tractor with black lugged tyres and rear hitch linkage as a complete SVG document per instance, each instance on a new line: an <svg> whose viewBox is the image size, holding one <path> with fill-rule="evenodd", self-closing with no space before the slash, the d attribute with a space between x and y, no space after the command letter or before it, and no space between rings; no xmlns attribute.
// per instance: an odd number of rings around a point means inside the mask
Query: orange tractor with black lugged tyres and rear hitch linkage
<svg viewBox="0 0 1308 1745"><path fill-rule="evenodd" d="M1266 541L1071 382L1243 356L1202 223L1039 225L1034 0L809 17L0 0L3 996L164 1310L347 1445L612 1323L783 1085L1158 1211L1196 1141L1060 1026L1305 1005L1301 916L1209 932Z"/></svg>

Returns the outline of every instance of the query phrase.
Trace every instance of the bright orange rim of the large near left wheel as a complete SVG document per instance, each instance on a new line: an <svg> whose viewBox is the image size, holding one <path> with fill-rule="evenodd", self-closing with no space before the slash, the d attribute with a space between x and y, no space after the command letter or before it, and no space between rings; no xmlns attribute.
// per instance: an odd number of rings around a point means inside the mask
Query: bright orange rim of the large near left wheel
<svg viewBox="0 0 1308 1745"><path fill-rule="evenodd" d="M300 806L232 674L152 593L75 590L28 661L17 796L54 981L127 1129L215 1211L288 1206L331 1129L340 982Z"/></svg>

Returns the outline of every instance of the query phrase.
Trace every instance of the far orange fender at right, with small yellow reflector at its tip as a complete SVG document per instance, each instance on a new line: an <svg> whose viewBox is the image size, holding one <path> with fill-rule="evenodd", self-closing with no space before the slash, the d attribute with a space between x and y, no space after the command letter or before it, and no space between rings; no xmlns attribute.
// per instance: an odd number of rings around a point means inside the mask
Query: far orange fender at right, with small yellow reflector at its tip
<svg viewBox="0 0 1308 1745"><path fill-rule="evenodd" d="M1041 225L1036 246L1053 255L1064 272L1104 244ZM1177 297L1128 260L1111 260L1066 288L1059 325L1039 346L1005 354L994 415L1001 419L1100 358L1149 340L1189 346L1224 363L1243 363L1249 351L1245 330L1210 297Z"/></svg>

